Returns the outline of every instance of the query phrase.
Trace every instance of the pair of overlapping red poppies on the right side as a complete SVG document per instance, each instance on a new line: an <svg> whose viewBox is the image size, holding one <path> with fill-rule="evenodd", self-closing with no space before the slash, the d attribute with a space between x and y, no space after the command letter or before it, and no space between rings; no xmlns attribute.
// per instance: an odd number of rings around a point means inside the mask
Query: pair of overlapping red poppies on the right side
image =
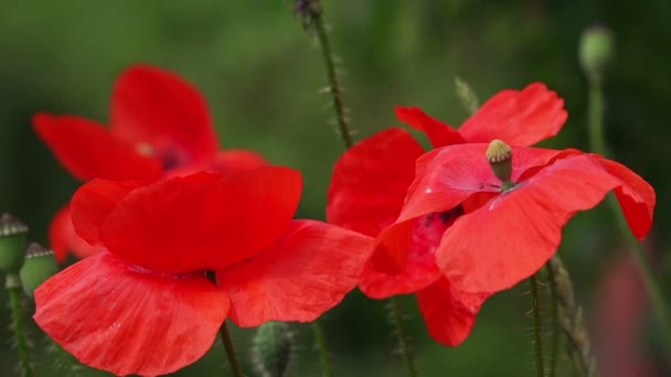
<svg viewBox="0 0 671 377"><path fill-rule="evenodd" d="M608 191L639 238L650 228L652 187L597 155L515 147L515 186L502 190L482 142L529 146L555 134L566 111L542 84L497 94L458 131L417 108L396 114L436 149L423 154L400 128L361 141L334 168L327 216L376 237L360 289L371 298L416 293L441 344L461 343L482 302L540 269L567 219Z"/></svg>

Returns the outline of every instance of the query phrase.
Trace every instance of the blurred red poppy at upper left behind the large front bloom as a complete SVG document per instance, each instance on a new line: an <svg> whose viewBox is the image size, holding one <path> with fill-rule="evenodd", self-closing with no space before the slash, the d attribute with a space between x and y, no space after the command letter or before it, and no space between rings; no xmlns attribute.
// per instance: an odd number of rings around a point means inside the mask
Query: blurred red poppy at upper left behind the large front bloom
<svg viewBox="0 0 671 377"><path fill-rule="evenodd" d="M117 79L110 126L77 116L38 114L33 125L61 164L76 179L141 180L200 170L230 174L265 164L247 150L219 150L207 105L170 72L135 65ZM56 259L100 252L74 231L70 205L54 216L49 238Z"/></svg>

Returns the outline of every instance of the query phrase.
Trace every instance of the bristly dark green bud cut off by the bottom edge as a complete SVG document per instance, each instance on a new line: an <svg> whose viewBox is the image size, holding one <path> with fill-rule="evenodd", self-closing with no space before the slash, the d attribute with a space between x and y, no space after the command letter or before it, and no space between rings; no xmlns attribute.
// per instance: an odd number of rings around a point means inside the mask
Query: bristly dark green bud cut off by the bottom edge
<svg viewBox="0 0 671 377"><path fill-rule="evenodd" d="M258 326L252 354L254 366L264 377L286 376L294 352L294 334L284 322Z"/></svg>

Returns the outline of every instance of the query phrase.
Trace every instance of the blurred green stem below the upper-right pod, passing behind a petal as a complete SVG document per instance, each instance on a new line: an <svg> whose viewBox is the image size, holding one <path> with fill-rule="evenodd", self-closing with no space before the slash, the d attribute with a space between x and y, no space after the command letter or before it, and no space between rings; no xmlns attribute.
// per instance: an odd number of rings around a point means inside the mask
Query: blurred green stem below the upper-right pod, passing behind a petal
<svg viewBox="0 0 671 377"><path fill-rule="evenodd" d="M589 143L592 151L606 157L606 138L604 134L604 94L601 90L601 80L598 78L588 79L589 83L589 97L588 97L588 129L589 129ZM671 349L671 315L669 309L664 302L664 295L660 289L660 284L654 278L650 262L646 256L646 250L641 244L636 239L627 225L627 219L620 209L620 205L613 193L608 194L608 205L615 215L615 219L619 231L625 236L629 244L629 250L636 262L638 271L643 279L643 284L650 302L652 303L652 311L657 316L658 323L662 330L662 337L667 345L667 349Z"/></svg>

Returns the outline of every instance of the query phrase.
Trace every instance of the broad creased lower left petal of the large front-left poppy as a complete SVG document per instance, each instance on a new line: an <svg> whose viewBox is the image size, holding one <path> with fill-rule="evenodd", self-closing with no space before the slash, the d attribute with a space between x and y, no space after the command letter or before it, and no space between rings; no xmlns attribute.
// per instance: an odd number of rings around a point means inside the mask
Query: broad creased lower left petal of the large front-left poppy
<svg viewBox="0 0 671 377"><path fill-rule="evenodd" d="M157 276L109 252L35 291L35 322L82 363L116 375L164 375L210 349L228 299L204 274Z"/></svg>

